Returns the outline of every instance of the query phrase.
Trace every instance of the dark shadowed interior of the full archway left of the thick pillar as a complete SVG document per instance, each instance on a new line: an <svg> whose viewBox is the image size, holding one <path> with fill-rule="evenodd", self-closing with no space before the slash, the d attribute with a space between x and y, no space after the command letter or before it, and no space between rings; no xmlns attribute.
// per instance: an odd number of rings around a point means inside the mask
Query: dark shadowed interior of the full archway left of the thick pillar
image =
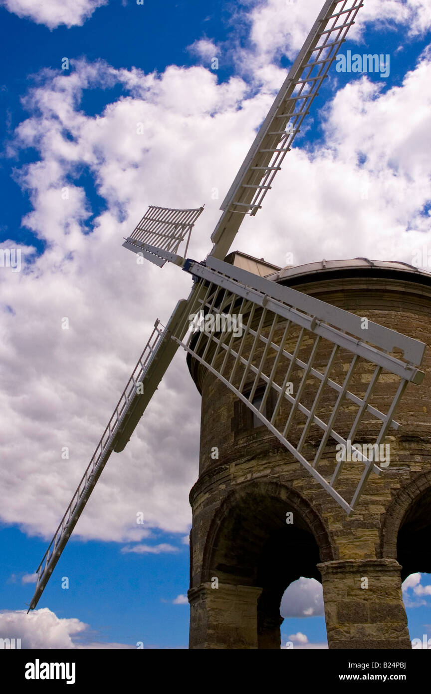
<svg viewBox="0 0 431 694"><path fill-rule="evenodd" d="M229 493L213 517L202 582L217 576L222 584L261 589L258 648L280 648L285 589L301 575L321 581L317 564L335 558L328 530L308 501L285 484L252 480Z"/></svg>

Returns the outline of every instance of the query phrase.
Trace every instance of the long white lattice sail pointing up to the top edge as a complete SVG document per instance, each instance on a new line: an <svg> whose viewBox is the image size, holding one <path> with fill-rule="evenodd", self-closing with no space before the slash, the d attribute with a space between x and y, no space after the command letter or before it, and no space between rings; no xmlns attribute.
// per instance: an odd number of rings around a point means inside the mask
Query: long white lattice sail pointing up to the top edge
<svg viewBox="0 0 431 694"><path fill-rule="evenodd" d="M256 214L337 56L362 0L327 0L221 205L211 255L223 259L245 214Z"/></svg>

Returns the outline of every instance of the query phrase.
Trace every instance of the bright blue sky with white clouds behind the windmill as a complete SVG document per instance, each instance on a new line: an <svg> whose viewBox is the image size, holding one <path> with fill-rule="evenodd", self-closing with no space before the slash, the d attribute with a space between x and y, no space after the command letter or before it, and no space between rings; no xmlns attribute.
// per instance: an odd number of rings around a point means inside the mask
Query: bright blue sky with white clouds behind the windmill
<svg viewBox="0 0 431 694"><path fill-rule="evenodd" d="M0 273L6 611L30 601L34 586L23 577L42 559L152 323L188 294L175 269L162 276L137 267L122 237L148 204L205 203L190 255L206 255L220 214L212 191L225 196L320 6L42 4L0 8L0 242L21 248L24 266ZM412 262L416 248L431 248L423 147L431 11L426 0L369 0L361 12L343 52L389 54L389 76L333 68L265 209L244 223L235 248L279 265L290 252L295 264L364 255ZM66 620L62 648L186 648L199 407L177 355L124 454L109 460L39 602L53 613L42 613L46 633ZM408 589L412 638L431 629L430 595L418 591L430 585L423 575ZM319 604L318 587L308 594ZM293 603L285 598L286 616ZM292 634L306 635L295 643L308 648L326 641L322 616L287 618L281 630L283 642Z"/></svg>

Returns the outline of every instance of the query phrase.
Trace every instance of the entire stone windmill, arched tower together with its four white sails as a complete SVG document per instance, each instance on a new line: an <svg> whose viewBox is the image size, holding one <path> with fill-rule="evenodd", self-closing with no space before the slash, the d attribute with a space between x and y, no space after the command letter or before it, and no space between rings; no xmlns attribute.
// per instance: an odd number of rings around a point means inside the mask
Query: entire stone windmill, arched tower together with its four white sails
<svg viewBox="0 0 431 694"><path fill-rule="evenodd" d="M125 239L150 262L190 273L193 288L166 328L156 321L37 569L30 609L107 459L127 445L182 346L202 393L190 647L279 648L281 596L302 575L322 580L330 648L410 648L401 566L403 575L427 570L416 548L428 539L430 403L416 386L430 276L366 259L282 270L227 255L245 214L261 208L360 7L324 3L222 203L203 262L177 254L202 208L150 207Z"/></svg>

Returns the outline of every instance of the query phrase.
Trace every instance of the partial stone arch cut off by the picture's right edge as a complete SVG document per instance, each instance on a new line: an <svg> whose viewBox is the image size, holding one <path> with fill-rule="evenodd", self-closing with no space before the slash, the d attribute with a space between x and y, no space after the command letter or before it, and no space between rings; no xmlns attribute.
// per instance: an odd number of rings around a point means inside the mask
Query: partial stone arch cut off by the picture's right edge
<svg viewBox="0 0 431 694"><path fill-rule="evenodd" d="M382 523L380 556L397 559L401 580L418 571L431 573L431 471L420 473L392 500Z"/></svg>

